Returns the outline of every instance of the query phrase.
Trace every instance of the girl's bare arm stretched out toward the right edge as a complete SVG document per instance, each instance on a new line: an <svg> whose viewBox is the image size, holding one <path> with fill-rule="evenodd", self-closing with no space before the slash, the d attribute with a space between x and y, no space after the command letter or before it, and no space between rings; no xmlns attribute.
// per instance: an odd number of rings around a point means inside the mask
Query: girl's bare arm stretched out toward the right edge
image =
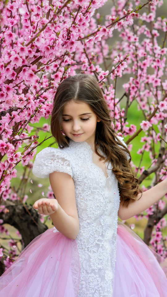
<svg viewBox="0 0 167 297"><path fill-rule="evenodd" d="M161 199L167 193L167 178L164 179L161 183L157 184L155 187L152 187L146 192L137 195L137 199L134 202L130 202L128 207L123 206L122 202L118 210L118 217L121 220L127 220L130 217L133 217L142 211L148 209L159 199ZM141 198L140 198L141 197Z"/></svg>

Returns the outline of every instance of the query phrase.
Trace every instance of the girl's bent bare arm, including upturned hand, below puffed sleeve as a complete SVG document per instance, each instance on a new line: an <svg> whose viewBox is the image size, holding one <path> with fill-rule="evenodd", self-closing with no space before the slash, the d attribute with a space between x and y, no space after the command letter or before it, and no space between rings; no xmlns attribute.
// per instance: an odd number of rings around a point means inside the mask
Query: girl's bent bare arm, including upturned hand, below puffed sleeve
<svg viewBox="0 0 167 297"><path fill-rule="evenodd" d="M75 239L79 233L79 219L74 181L69 174L57 171L49 174L49 180L56 199L37 200L33 207L39 213L49 215L64 236Z"/></svg>

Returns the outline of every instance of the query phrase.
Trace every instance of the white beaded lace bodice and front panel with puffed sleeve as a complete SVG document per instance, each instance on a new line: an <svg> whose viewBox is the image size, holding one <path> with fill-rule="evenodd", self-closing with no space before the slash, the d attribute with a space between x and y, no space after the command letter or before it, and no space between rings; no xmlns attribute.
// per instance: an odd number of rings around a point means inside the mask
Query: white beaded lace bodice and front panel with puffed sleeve
<svg viewBox="0 0 167 297"><path fill-rule="evenodd" d="M123 142L122 138L119 139ZM70 141L64 149L45 148L36 155L33 174L47 178L58 171L71 175L79 216L76 237L80 259L78 297L112 297L119 209L118 182L106 164L108 178L92 162L86 142Z"/></svg>

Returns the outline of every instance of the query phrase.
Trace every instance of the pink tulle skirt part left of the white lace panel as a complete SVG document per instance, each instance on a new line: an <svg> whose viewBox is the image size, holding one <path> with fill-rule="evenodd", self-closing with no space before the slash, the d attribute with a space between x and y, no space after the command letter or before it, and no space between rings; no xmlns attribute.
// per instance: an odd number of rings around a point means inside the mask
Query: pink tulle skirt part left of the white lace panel
<svg viewBox="0 0 167 297"><path fill-rule="evenodd" d="M0 277L1 297L77 297L76 241L53 228L37 236Z"/></svg>

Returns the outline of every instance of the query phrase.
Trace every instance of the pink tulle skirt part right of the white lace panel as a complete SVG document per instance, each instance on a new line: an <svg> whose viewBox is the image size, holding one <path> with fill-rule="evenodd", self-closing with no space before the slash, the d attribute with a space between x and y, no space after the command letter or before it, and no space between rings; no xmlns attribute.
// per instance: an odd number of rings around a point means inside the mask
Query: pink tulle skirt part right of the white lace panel
<svg viewBox="0 0 167 297"><path fill-rule="evenodd" d="M118 225L113 297L167 296L167 261L154 254L133 231Z"/></svg>

